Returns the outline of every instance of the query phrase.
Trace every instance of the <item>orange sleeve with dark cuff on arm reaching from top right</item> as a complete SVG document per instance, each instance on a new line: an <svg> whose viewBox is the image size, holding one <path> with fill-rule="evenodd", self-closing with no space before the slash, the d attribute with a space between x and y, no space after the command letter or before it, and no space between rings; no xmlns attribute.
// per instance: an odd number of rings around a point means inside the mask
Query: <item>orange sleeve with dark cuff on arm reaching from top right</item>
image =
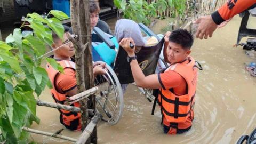
<svg viewBox="0 0 256 144"><path fill-rule="evenodd" d="M256 0L229 0L222 5L218 11L212 13L213 21L219 25L223 21L234 17L234 15L241 13L254 5Z"/></svg>

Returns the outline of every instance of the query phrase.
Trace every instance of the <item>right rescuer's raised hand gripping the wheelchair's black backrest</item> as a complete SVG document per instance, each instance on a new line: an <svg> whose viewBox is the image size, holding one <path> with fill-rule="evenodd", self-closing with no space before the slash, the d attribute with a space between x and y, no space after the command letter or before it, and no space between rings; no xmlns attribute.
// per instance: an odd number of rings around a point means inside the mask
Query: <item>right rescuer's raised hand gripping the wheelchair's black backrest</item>
<svg viewBox="0 0 256 144"><path fill-rule="evenodd" d="M130 42L134 45L133 49L130 47ZM135 51L135 43L134 43L132 38L123 38L120 41L119 45L123 47L123 49L127 52L129 57L132 57L132 56L135 55L135 53L134 53L134 51Z"/></svg>

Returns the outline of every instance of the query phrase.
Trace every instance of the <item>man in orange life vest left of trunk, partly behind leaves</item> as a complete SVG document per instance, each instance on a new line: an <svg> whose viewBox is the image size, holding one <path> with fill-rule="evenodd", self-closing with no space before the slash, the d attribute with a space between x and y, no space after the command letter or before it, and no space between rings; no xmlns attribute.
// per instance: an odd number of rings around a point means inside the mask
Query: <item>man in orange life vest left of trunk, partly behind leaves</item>
<svg viewBox="0 0 256 144"><path fill-rule="evenodd" d="M51 94L56 103L64 104L67 97L71 97L77 94L77 85L76 85L76 67L75 63L71 60L71 57L75 54L75 49L73 43L69 43L68 37L70 33L68 32L69 27L64 26L64 36L63 41L53 32L53 49L60 47L60 49L54 51L53 58L60 63L64 69L64 73L60 73L58 70L47 63L46 71L48 77L52 82L53 89L51 89ZM69 43L69 44L67 44ZM63 45L67 44L67 45ZM94 77L99 74L104 74L103 70L105 64L98 65L93 68ZM70 106L79 107L79 103L75 102ZM80 130L81 129L81 120L80 113L73 113L71 111L60 109L60 123L63 124L69 130Z"/></svg>

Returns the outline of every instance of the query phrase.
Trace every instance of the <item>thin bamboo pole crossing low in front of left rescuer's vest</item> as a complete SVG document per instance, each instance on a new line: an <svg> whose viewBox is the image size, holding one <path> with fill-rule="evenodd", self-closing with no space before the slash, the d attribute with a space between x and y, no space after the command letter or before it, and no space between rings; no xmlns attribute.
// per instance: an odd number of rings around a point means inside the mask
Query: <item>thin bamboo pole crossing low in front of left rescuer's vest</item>
<svg viewBox="0 0 256 144"><path fill-rule="evenodd" d="M63 110L68 110L68 111L72 111L72 112L75 112L75 113L79 113L81 111L81 109L78 108L78 107L61 105L59 103L46 102L46 101L42 101L42 100L37 100L37 106L44 106L44 107L63 109ZM88 113L90 115L94 115L94 110L93 109L88 109Z"/></svg>

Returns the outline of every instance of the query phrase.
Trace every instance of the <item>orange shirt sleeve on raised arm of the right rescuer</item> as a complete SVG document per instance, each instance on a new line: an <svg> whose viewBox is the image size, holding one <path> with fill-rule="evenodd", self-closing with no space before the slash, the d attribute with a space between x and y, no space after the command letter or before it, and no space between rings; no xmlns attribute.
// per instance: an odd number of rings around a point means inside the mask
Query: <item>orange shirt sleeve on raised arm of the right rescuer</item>
<svg viewBox="0 0 256 144"><path fill-rule="evenodd" d="M158 80L164 90L178 87L182 82L186 84L183 77L172 70L158 74Z"/></svg>

